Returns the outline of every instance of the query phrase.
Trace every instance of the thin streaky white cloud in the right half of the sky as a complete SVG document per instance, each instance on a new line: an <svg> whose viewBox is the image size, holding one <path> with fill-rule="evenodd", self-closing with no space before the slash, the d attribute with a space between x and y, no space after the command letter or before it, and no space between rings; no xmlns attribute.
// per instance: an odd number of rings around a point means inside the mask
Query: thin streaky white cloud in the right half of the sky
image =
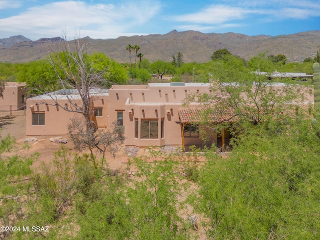
<svg viewBox="0 0 320 240"><path fill-rule="evenodd" d="M238 23L250 17L255 17L257 21L277 21L320 16L320 1L244 0L228 1L228 3L229 5L208 5L197 12L174 16L172 19L186 23L211 24L215 25L216 29L225 27L226 22ZM208 28L208 26L202 27Z"/></svg>

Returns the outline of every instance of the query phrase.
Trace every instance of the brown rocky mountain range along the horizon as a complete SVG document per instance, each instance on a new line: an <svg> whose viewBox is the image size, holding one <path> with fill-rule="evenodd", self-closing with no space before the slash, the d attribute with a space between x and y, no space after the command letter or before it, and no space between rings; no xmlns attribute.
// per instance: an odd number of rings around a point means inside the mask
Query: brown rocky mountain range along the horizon
<svg viewBox="0 0 320 240"><path fill-rule="evenodd" d="M41 38L37 41L25 38L27 40L16 40L15 43L9 44L8 39L13 41L17 37L24 38L14 36L12 39L11 37L0 39L1 62L28 62L43 58L47 56L50 48L57 49L57 44L63 40L60 37ZM227 48L232 54L245 59L268 51L267 54L285 55L287 61L302 62L304 58L316 55L320 43L320 30L278 36L172 30L166 34L120 36L116 39L86 38L91 52L101 51L118 62L129 61L128 51L125 50L127 44L139 45L139 52L150 61L157 59L171 61L171 56L179 51L183 54L184 62L206 62L210 60L215 50ZM131 59L134 61L134 52L131 53Z"/></svg>

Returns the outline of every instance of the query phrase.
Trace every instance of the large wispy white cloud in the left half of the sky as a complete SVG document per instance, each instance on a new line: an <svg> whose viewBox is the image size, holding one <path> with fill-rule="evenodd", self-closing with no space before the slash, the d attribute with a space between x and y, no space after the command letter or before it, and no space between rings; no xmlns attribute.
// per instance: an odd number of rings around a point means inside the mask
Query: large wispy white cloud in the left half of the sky
<svg viewBox="0 0 320 240"><path fill-rule="evenodd" d="M143 7L141 7L143 5ZM135 1L129 4L87 4L59 1L28 8L20 15L0 19L1 31L14 30L33 38L61 36L73 38L75 32L92 38L113 38L143 24L158 11L159 4Z"/></svg>

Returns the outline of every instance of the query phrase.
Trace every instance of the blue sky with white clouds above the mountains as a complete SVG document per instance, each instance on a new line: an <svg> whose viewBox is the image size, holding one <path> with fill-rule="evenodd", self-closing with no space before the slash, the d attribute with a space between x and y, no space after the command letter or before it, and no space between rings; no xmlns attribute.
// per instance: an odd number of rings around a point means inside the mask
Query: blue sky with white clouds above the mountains
<svg viewBox="0 0 320 240"><path fill-rule="evenodd" d="M0 38L320 30L320 0L0 0Z"/></svg>

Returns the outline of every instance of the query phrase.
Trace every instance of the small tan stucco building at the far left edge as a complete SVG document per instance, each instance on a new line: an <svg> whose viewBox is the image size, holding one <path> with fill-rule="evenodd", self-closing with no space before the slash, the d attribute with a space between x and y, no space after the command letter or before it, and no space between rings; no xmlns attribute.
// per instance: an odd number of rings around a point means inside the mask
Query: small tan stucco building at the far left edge
<svg viewBox="0 0 320 240"><path fill-rule="evenodd" d="M16 111L25 108L27 89L25 82L5 82L3 98L0 97L0 111Z"/></svg>

